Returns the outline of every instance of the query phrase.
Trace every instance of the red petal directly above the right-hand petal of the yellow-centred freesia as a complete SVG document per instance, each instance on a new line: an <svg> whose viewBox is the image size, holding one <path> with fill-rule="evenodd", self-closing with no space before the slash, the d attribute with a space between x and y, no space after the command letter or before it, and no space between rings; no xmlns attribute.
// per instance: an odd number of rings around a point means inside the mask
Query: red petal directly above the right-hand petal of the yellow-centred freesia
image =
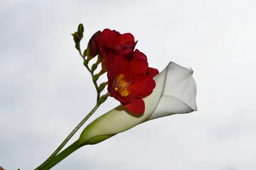
<svg viewBox="0 0 256 170"><path fill-rule="evenodd" d="M134 59L130 64L131 74L146 74L148 71L148 62L143 59Z"/></svg>

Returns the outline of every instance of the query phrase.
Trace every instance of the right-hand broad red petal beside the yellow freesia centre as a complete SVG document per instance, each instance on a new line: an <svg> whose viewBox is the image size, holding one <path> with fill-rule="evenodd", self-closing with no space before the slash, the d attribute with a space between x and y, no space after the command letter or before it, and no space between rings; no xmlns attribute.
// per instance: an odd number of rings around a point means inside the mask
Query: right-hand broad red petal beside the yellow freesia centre
<svg viewBox="0 0 256 170"><path fill-rule="evenodd" d="M128 92L130 98L145 98L153 92L156 86L156 82L145 75L133 75L133 77L127 79L127 81L133 81L128 86Z"/></svg>

